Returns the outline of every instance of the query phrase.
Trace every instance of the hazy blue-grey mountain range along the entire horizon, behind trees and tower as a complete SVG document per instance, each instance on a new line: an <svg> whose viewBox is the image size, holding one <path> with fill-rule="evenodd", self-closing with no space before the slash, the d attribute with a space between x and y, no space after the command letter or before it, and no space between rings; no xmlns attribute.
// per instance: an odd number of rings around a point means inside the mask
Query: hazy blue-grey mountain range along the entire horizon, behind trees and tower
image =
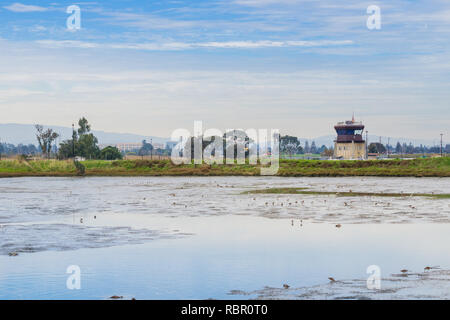
<svg viewBox="0 0 450 320"><path fill-rule="evenodd" d="M44 127L50 127L56 132L60 134L59 141L63 141L66 139L70 139L72 136L72 128L70 127L61 127L61 126L48 126L44 125ZM105 132L105 131L92 131L94 135L98 138L100 144L113 144L113 143L131 143L131 142L141 142L142 140L147 140L150 142L150 139L153 139L155 143L165 143L169 141L169 138L155 137L155 136L143 136L139 134L133 133L117 133L117 132ZM312 141L315 141L316 146L320 147L322 145L332 146L334 143L334 139L336 135L331 134L327 136L321 136L313 139L299 138L301 145L305 145L305 141L308 140L311 144ZM377 135L369 135L369 142L379 142L380 136ZM413 145L426 145L426 146L434 146L440 144L439 139L427 140L427 139L415 139L415 138L390 138L390 144L395 146L397 141L400 143L410 142ZM32 124L17 124L17 123L6 123L0 124L0 142L1 143L12 143L12 144L37 144L36 142L36 129ZM388 138L382 136L381 142L386 144L388 142Z"/></svg>

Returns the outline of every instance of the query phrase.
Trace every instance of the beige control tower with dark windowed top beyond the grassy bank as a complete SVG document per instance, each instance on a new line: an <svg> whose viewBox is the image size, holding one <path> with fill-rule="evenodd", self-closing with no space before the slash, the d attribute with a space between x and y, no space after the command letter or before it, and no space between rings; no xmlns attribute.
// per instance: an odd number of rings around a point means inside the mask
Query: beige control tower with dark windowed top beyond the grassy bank
<svg viewBox="0 0 450 320"><path fill-rule="evenodd" d="M343 160L367 159L366 141L363 139L364 125L351 121L338 122L334 129L337 137L334 140L334 158Z"/></svg>

